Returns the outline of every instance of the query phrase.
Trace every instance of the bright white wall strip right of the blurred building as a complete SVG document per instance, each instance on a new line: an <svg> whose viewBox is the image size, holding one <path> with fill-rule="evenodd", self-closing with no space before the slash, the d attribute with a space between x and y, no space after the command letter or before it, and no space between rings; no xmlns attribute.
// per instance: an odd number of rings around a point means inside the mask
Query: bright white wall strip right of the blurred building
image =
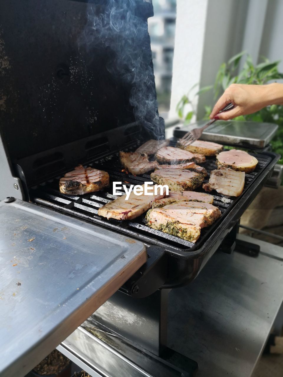
<svg viewBox="0 0 283 377"><path fill-rule="evenodd" d="M200 81L208 0L177 0L172 93L169 117L176 105Z"/></svg>

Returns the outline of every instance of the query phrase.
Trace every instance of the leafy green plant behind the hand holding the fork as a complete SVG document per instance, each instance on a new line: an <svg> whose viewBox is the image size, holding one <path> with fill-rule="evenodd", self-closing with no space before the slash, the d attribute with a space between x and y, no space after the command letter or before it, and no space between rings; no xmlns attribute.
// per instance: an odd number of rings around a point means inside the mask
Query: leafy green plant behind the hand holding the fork
<svg viewBox="0 0 283 377"><path fill-rule="evenodd" d="M243 68L239 70L240 61L244 58L245 62L243 64ZM233 56L228 63L222 63L215 77L214 85L201 88L197 95L201 95L202 93L212 89L214 93L214 100L216 100L219 95L228 88L228 86L234 83L263 85L270 81L276 81L283 78L283 73L278 71L278 64L280 63L280 60L271 62L265 57L262 57L261 60L261 63L255 65L249 54L246 54L245 51L240 52L239 54ZM196 112L194 108L192 108L192 110L185 115L183 112L186 103L191 104L191 101L189 100L189 93L188 95L183 96L177 105L178 115L180 118L185 119L186 123L189 123L188 120L190 121L192 115L194 115ZM204 119L209 118L211 110L212 106L205 106ZM234 118L234 120L278 124L277 134L271 141L271 144L274 152L283 156L283 106L272 105L264 107L260 111L253 114L238 116L237 118ZM280 159L279 163L283 164L283 158Z"/></svg>

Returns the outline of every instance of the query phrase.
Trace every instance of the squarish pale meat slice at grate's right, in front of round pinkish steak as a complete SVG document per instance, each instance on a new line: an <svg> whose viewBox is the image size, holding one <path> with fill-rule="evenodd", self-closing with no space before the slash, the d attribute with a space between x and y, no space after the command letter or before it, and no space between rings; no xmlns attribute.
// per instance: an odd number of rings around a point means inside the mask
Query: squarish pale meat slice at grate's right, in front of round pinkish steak
<svg viewBox="0 0 283 377"><path fill-rule="evenodd" d="M202 187L206 191L216 190L227 196L240 196L245 185L245 172L221 167L219 170L212 170L209 182Z"/></svg>

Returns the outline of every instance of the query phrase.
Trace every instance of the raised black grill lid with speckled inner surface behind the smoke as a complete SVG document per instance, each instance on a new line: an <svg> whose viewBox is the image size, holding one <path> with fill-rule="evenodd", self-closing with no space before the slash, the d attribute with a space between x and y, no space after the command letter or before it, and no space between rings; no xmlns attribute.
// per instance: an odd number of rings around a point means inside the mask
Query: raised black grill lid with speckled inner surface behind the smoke
<svg viewBox="0 0 283 377"><path fill-rule="evenodd" d="M137 120L158 129L151 1L0 8L0 127L13 161Z"/></svg>

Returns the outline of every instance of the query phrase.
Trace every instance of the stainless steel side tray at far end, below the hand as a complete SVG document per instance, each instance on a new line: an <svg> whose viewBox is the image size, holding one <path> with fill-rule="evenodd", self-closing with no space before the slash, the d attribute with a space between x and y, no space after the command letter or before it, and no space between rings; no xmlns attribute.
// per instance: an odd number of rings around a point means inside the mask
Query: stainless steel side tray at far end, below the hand
<svg viewBox="0 0 283 377"><path fill-rule="evenodd" d="M181 126L177 130L175 129L174 136L181 136L175 135L176 131L177 133L183 132L185 134L185 132L193 128L202 127L206 123L207 121L198 121L188 126ZM203 132L201 139L241 145L242 147L264 148L274 137L277 129L278 126L274 123L217 121Z"/></svg>

